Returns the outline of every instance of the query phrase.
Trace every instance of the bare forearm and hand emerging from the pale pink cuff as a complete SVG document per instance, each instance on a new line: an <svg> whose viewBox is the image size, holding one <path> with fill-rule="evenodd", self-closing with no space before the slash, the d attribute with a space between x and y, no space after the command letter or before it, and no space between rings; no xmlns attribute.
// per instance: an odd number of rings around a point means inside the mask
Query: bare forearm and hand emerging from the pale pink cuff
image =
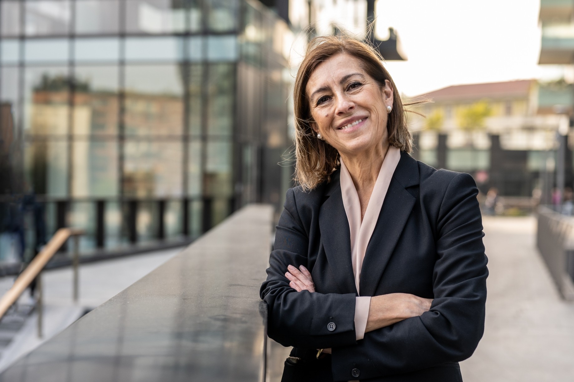
<svg viewBox="0 0 574 382"><path fill-rule="evenodd" d="M431 298L422 298L408 293L390 293L371 297L365 332L420 316L429 311L431 304Z"/></svg>

